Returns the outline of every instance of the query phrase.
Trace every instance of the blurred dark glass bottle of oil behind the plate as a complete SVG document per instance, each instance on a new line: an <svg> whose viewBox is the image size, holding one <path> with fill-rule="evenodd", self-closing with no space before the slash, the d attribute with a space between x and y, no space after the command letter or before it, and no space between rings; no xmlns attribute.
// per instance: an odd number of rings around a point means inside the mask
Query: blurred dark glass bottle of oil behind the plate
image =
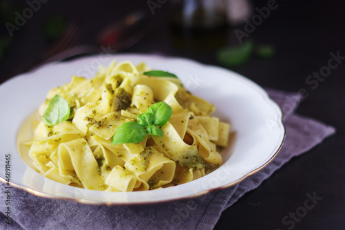
<svg viewBox="0 0 345 230"><path fill-rule="evenodd" d="M173 43L188 50L214 50L226 41L227 23L223 0L170 1Z"/></svg>

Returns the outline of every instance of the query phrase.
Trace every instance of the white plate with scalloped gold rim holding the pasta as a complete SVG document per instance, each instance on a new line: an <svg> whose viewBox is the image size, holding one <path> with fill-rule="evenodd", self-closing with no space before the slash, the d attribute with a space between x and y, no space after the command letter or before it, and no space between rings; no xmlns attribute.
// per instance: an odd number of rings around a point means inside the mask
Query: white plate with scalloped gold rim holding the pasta
<svg viewBox="0 0 345 230"><path fill-rule="evenodd" d="M137 192L104 192L80 189L43 177L28 164L30 158L17 150L19 128L44 102L51 88L70 82L72 75L92 77L99 64L145 61L156 70L175 73L195 95L215 104L215 116L230 122L236 140L221 154L224 164L203 178L166 189ZM0 180L6 182L6 157L10 154L12 186L34 195L72 199L89 204L137 204L191 198L236 184L262 169L277 155L285 137L282 111L267 93L230 70L206 66L189 59L153 55L99 55L39 68L10 79L0 86ZM25 162L24 162L25 161Z"/></svg>

